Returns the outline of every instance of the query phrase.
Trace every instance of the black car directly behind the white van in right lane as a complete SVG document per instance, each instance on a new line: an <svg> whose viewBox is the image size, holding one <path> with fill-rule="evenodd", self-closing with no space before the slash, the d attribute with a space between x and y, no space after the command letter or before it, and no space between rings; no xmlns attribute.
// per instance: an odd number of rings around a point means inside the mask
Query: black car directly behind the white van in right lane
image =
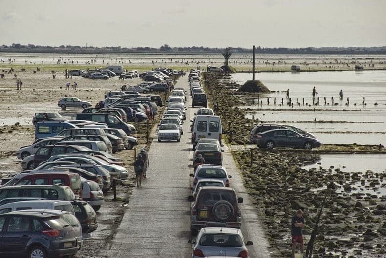
<svg viewBox="0 0 386 258"><path fill-rule="evenodd" d="M202 155L206 164L222 165L222 152L217 143L199 143L193 154L193 165L198 155Z"/></svg>

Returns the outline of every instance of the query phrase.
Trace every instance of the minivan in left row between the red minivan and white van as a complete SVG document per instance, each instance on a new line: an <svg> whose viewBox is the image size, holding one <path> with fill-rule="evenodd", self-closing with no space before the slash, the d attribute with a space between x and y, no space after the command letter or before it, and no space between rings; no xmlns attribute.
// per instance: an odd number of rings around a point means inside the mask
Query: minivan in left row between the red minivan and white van
<svg viewBox="0 0 386 258"><path fill-rule="evenodd" d="M64 185L22 185L0 188L0 200L13 197L38 197L46 199L76 199L71 187Z"/></svg>

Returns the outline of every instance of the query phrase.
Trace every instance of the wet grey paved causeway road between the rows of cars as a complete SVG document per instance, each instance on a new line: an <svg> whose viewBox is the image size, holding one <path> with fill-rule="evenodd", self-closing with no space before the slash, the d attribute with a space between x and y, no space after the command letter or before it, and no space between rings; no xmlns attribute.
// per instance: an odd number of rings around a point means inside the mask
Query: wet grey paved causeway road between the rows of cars
<svg viewBox="0 0 386 258"><path fill-rule="evenodd" d="M187 77L177 83L189 92ZM192 245L188 244L190 235L191 177L193 172L190 144L190 122L198 108L191 108L191 99L187 101L187 119L181 141L161 142L154 140L149 150L150 167L148 178L142 187L133 190L128 210L109 250L102 252L108 258L188 258L191 257ZM261 230L255 208L242 185L235 162L227 147L224 152L224 166L233 177L231 186L242 204L242 231L246 240L254 242L249 248L251 258L268 258L268 243Z"/></svg>

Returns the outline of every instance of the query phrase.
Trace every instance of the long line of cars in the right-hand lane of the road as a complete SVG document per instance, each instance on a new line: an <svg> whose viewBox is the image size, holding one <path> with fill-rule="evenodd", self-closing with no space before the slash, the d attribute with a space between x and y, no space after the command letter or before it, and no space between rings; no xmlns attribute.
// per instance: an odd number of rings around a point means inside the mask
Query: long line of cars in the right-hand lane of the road
<svg viewBox="0 0 386 258"><path fill-rule="evenodd" d="M231 187L232 176L222 165L221 118L207 108L200 77L198 70L189 74L192 107L203 107L190 121L194 173L190 174L193 188L188 200L191 233L197 235L189 240L194 245L192 257L249 257L246 246L253 243L246 242L240 230L243 199L237 197ZM197 96L205 96L203 102L198 102L201 98Z"/></svg>

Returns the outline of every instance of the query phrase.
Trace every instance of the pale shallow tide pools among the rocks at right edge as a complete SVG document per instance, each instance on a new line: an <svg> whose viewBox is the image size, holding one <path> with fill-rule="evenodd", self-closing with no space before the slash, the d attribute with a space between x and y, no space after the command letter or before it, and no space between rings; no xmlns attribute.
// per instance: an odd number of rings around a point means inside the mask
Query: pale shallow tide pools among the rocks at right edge
<svg viewBox="0 0 386 258"><path fill-rule="evenodd" d="M374 173L386 172L386 155L385 154L321 154L321 159L319 162L321 164L312 164L304 166L304 169L316 168L319 170L319 167L330 168L334 166L334 169L339 168L343 172L362 172L365 174L367 170L371 170ZM345 166L345 168L343 168ZM334 171L333 169L333 171ZM334 173L336 173L334 171ZM349 183L349 182L347 182ZM384 184L382 186L382 183ZM368 194L377 194L378 196L386 195L386 186L385 182L381 181L381 185L378 185L378 189L370 187L368 183L366 185L361 185L361 182L355 182L351 184L353 187L352 193L368 193ZM314 191L322 190L323 188L312 189ZM337 192L345 192L343 187L338 189Z"/></svg>

